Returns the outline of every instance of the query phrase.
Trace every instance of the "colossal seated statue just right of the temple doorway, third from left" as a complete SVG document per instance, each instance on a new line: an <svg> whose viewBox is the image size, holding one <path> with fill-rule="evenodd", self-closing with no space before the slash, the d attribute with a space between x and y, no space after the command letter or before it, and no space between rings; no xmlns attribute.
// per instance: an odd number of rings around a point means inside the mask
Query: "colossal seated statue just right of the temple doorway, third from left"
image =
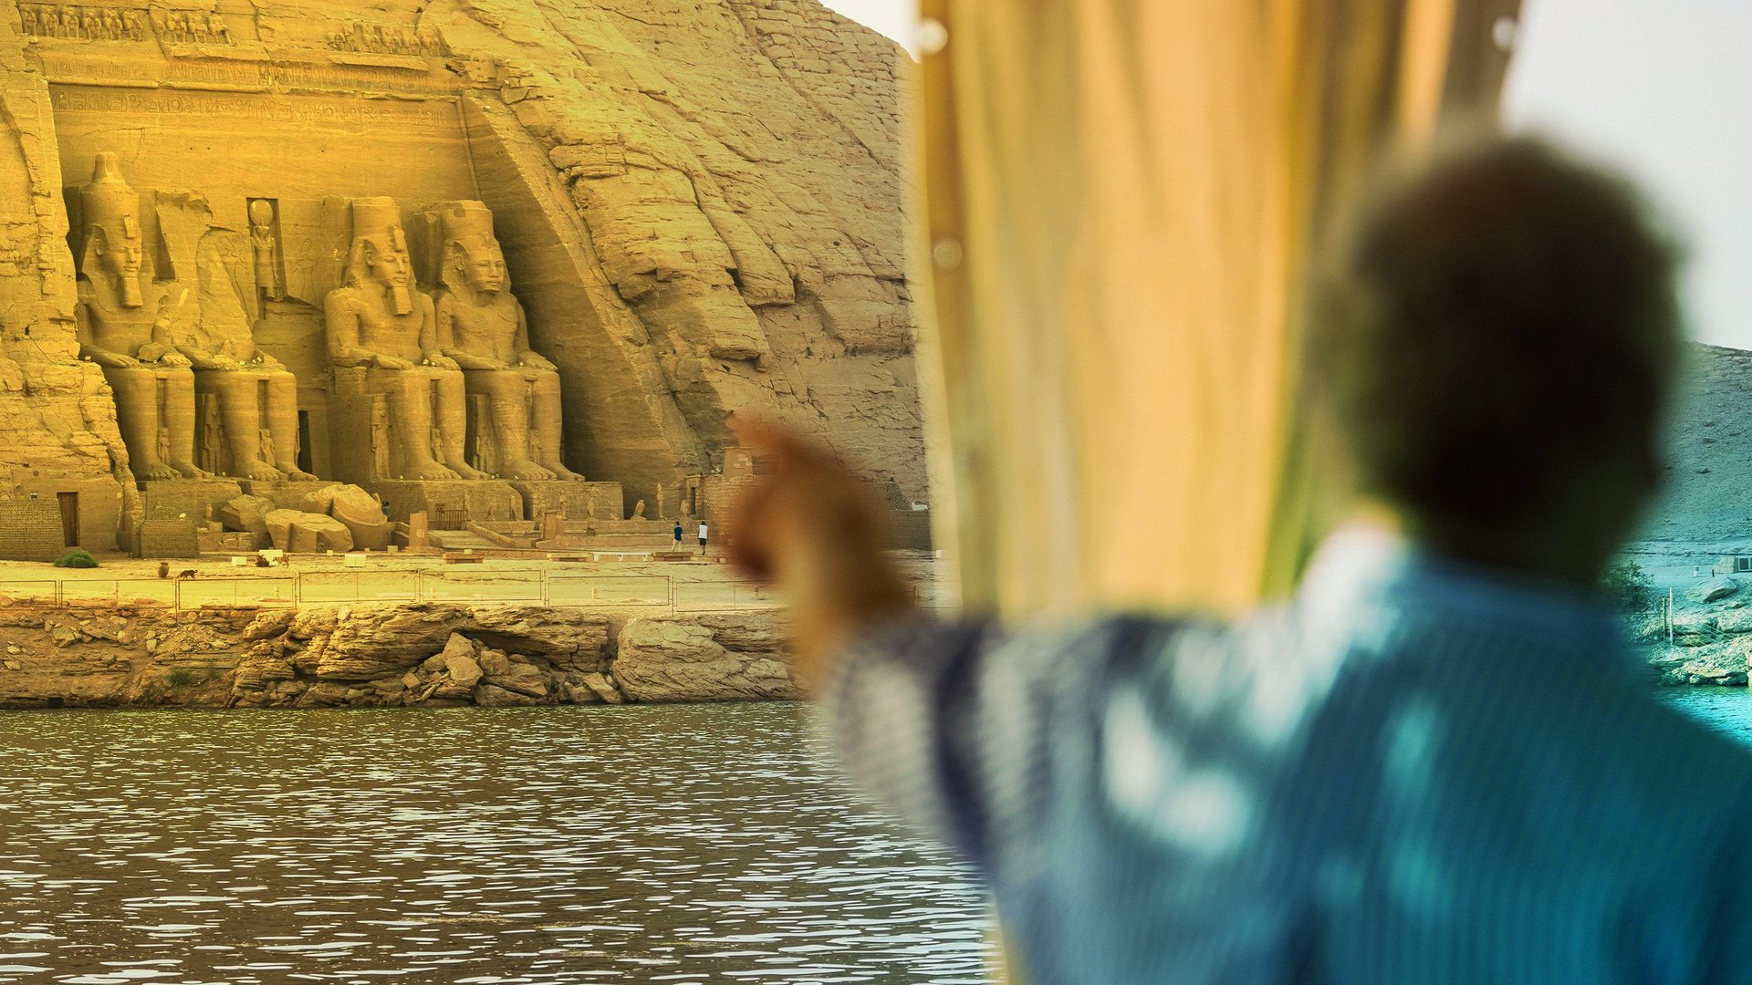
<svg viewBox="0 0 1752 985"><path fill-rule="evenodd" d="M389 401L389 468L373 478L485 478L463 457L463 373L438 351L433 301L415 291L401 209L356 198L345 282L322 301L329 365L361 370L363 391ZM336 384L338 386L338 384ZM371 433L361 421L359 433Z"/></svg>

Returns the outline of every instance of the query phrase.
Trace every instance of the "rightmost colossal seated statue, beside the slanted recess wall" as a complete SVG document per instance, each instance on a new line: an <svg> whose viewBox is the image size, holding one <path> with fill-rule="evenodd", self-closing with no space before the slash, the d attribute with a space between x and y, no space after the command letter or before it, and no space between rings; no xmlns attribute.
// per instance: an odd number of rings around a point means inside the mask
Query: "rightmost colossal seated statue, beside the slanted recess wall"
<svg viewBox="0 0 1752 985"><path fill-rule="evenodd" d="M559 373L529 347L492 212L480 202L443 202L431 214L442 240L438 347L463 366L468 393L487 403L475 422L477 461L505 478L582 480L561 459Z"/></svg>

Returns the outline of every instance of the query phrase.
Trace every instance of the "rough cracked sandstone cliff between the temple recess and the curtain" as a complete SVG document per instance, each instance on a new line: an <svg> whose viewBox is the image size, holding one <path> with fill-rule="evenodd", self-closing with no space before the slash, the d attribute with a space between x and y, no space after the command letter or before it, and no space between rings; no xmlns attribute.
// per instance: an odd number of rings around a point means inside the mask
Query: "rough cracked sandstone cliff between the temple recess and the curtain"
<svg viewBox="0 0 1752 985"><path fill-rule="evenodd" d="M613 287L592 301L617 345L590 354L673 394L652 415L678 449L710 463L759 408L923 500L892 42L809 0L445 0L424 23L498 65L471 109L510 181L531 144L557 168L582 279Z"/></svg>

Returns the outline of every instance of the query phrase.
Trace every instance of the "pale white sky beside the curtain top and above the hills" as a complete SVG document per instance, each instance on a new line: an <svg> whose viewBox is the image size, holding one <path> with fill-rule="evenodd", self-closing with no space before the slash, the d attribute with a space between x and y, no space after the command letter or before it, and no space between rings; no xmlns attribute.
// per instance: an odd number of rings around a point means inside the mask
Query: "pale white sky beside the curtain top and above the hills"
<svg viewBox="0 0 1752 985"><path fill-rule="evenodd" d="M825 4L913 44L916 0ZM1752 0L1524 0L1522 12L1508 119L1642 181L1691 244L1696 337L1752 349Z"/></svg>

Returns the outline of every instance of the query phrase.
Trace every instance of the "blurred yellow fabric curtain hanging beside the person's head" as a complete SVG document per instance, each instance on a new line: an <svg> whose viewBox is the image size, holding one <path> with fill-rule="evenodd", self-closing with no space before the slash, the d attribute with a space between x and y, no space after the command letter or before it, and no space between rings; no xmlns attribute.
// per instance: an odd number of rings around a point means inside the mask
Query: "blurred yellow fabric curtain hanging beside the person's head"
<svg viewBox="0 0 1752 985"><path fill-rule="evenodd" d="M1319 526L1309 254L1379 149L1494 107L1519 0L922 14L922 349L964 599L1223 612L1288 587Z"/></svg>

